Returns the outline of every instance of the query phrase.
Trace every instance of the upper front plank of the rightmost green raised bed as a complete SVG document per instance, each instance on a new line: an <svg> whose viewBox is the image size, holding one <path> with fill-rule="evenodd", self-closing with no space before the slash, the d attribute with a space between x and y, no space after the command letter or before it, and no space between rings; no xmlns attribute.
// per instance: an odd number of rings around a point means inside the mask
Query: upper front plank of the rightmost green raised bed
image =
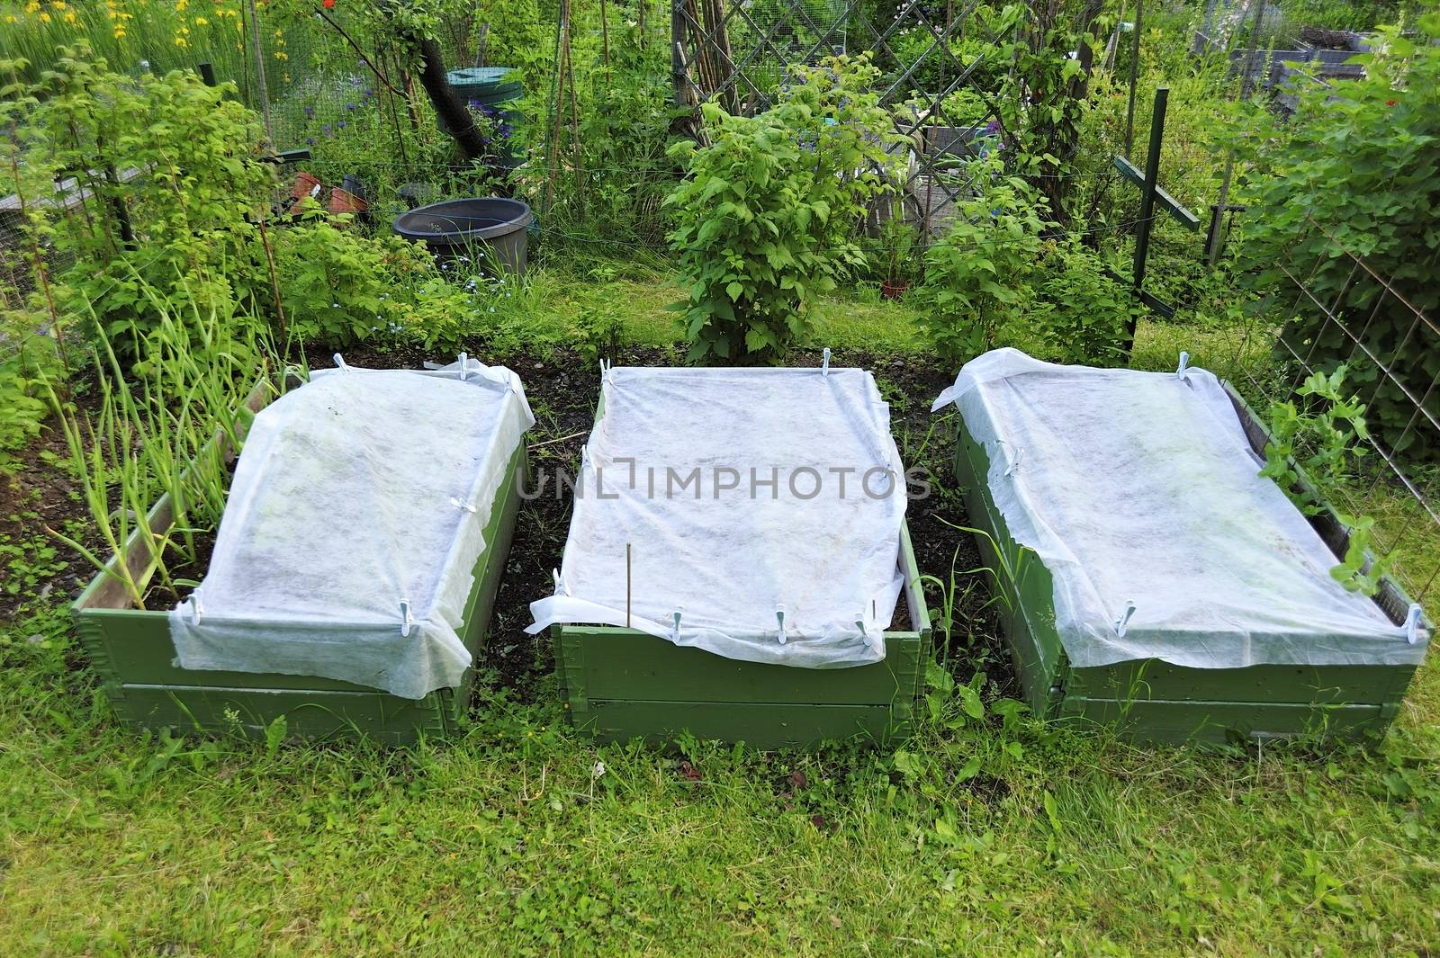
<svg viewBox="0 0 1440 958"><path fill-rule="evenodd" d="M1414 666L1257 665L1187 669L1158 659L1071 669L1066 695L1092 699L1200 699L1384 705L1404 698Z"/></svg>

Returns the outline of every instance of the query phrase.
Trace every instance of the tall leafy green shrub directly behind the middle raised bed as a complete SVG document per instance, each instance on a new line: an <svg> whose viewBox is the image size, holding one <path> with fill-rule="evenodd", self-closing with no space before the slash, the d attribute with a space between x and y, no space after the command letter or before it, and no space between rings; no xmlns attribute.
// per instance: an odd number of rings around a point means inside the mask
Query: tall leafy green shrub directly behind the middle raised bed
<svg viewBox="0 0 1440 958"><path fill-rule="evenodd" d="M690 174L665 199L688 299L690 361L772 362L808 329L815 293L864 266L855 226L891 183L890 115L864 59L799 68L757 117L706 104L710 145L678 144Z"/></svg>

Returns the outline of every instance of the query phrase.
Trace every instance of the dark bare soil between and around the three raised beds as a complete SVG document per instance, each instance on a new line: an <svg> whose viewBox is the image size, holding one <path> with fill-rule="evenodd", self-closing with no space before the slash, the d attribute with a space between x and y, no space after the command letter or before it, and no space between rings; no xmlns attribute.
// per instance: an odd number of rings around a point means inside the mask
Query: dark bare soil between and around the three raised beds
<svg viewBox="0 0 1440 958"><path fill-rule="evenodd" d="M530 434L530 462L534 473L554 476L562 467L576 469L595 416L599 378L596 364L582 360L577 352L567 348L543 355L495 357L481 350L471 355L487 362L503 362L524 381L537 420ZM356 348L347 350L344 357L351 365L369 368L419 368L426 360L449 361L446 357L428 355L420 350L380 352ZM307 360L312 368L333 365L330 352L315 351ZM621 350L612 361L618 365L670 365L675 358L668 350L629 348ZM799 351L792 357L793 365L815 367L821 361L818 350ZM904 465L912 469L923 466L929 470L930 495L912 499L907 506L916 561L922 574L942 581L949 581L953 570L962 591L958 598L956 621L963 623L963 627L952 630L950 649L937 652L952 663L960 680L968 680L975 670L984 670L991 693L1015 695L1018 686L1009 657L1004 654L1004 646L995 637L995 623L985 606L989 583L981 581L978 574L963 574L979 567L981 561L971 537L958 528L966 525L968 519L952 472L953 414L930 414L932 398L949 386L950 375L937 370L927 357L873 355L864 351L837 350L831 362L868 368L876 374L881 393L890 403L891 429ZM42 524L59 528L68 519L86 516L84 503L76 501L73 483L60 469L42 460L42 450L49 450L62 460L66 457L59 430L48 429L36 442L33 455L16 475L0 482L0 535L10 535L12 541L33 535ZM531 699L550 690L543 682L553 670L550 643L544 636L527 636L524 629L531 621L530 603L553 591L552 570L560 565L569 524L569 493L556 495L553 488L547 488L541 495L521 503L505 574L495 600L488 656L482 663L494 682L510 688L520 699ZM173 577L203 578L213 537L197 537L196 548L200 561L193 567L173 568ZM91 575L88 564L76 558L48 583L49 591L45 594L60 591L73 596L84 588ZM965 590L966 584L972 587ZM180 587L179 591L183 597L189 588ZM35 596L33 590L30 596ZM174 601L160 590L153 590L153 607L166 607ZM13 616L22 600L23 596L0 594L0 621ZM943 598L932 583L926 584L926 600L933 617L933 610ZM896 610L893 629L909 627L909 610L901 601ZM943 633L937 627L936 642L942 639Z"/></svg>

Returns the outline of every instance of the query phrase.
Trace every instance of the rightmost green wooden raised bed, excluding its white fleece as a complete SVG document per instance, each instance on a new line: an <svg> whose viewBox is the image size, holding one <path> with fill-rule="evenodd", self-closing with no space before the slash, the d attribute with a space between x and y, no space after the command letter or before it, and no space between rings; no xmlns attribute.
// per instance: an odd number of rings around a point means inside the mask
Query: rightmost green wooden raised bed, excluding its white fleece
<svg viewBox="0 0 1440 958"><path fill-rule="evenodd" d="M1267 434L1253 410L1225 384L1257 453ZM1002 629L1025 699L1041 716L1107 725L1129 738L1156 742L1225 742L1237 738L1338 736L1384 732L1398 713L1416 666L1259 665L1192 669L1159 659L1104 667L1071 667L1056 630L1050 571L1011 537L991 498L989 457L956 417L955 473L963 483L982 558L996 570ZM1336 555L1346 531L1333 512L1312 524ZM1408 597L1385 578L1375 601L1394 624L1405 620ZM1430 627L1428 623L1424 623Z"/></svg>

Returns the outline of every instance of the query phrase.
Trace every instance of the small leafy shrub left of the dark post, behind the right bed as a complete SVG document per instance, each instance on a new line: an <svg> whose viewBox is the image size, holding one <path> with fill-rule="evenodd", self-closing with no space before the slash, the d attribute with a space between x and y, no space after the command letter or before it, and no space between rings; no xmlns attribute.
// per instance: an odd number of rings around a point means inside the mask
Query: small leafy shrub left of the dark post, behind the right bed
<svg viewBox="0 0 1440 958"><path fill-rule="evenodd" d="M924 255L916 293L920 329L940 358L959 365L994 348L1001 328L1031 298L1047 204L994 161L979 191L955 209L955 226Z"/></svg>

